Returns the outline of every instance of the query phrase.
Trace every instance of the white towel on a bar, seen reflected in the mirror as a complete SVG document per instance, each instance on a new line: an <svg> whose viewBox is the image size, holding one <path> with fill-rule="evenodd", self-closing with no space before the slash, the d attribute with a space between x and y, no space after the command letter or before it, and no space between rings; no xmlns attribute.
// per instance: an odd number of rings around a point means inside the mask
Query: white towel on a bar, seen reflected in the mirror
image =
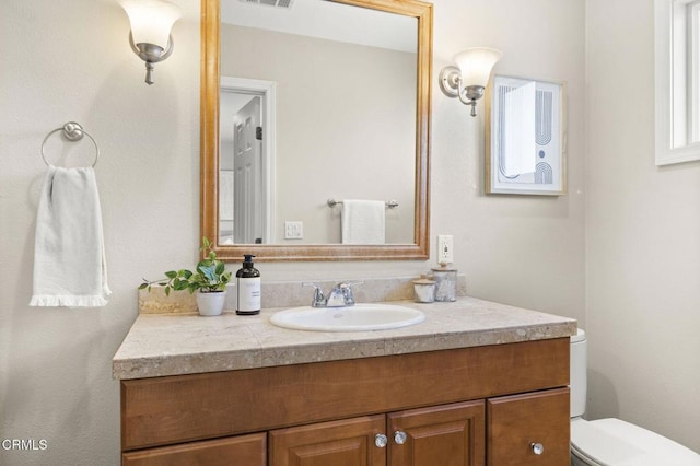
<svg viewBox="0 0 700 466"><path fill-rule="evenodd" d="M384 244L384 209L381 200L343 200L342 244Z"/></svg>

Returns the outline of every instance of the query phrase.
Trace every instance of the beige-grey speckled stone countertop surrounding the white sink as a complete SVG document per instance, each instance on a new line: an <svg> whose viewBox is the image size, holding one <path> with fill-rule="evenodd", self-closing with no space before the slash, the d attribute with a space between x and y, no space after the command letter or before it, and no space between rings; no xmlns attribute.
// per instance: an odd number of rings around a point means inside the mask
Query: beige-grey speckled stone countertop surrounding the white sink
<svg viewBox="0 0 700 466"><path fill-rule="evenodd" d="M460 296L452 303L395 301L425 321L393 330L328 333L270 324L257 316L141 314L113 359L115 378L197 374L306 362L500 345L574 335L576 321Z"/></svg>

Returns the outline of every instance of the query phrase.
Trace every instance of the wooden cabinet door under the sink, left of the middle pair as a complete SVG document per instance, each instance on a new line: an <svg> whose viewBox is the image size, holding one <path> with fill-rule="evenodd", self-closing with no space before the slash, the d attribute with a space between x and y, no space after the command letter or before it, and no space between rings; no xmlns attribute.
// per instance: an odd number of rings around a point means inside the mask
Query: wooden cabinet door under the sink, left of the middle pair
<svg viewBox="0 0 700 466"><path fill-rule="evenodd" d="M375 415L273 430L270 465L384 466L386 448L374 443L384 428L384 416Z"/></svg>

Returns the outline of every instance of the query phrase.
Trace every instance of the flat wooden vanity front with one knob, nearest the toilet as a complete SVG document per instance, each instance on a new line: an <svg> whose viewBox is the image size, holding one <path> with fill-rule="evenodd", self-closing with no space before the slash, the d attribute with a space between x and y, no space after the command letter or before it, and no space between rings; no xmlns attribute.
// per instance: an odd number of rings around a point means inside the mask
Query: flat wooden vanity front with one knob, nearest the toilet
<svg viewBox="0 0 700 466"><path fill-rule="evenodd" d="M490 466L570 464L569 388L487 401Z"/></svg>

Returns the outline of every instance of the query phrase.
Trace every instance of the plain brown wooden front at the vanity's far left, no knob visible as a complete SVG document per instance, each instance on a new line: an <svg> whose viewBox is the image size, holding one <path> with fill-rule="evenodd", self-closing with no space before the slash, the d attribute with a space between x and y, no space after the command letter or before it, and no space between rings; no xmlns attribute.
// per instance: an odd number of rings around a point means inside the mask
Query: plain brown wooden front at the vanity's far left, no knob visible
<svg viewBox="0 0 700 466"><path fill-rule="evenodd" d="M124 466L266 466L267 435L254 433L125 453Z"/></svg>

